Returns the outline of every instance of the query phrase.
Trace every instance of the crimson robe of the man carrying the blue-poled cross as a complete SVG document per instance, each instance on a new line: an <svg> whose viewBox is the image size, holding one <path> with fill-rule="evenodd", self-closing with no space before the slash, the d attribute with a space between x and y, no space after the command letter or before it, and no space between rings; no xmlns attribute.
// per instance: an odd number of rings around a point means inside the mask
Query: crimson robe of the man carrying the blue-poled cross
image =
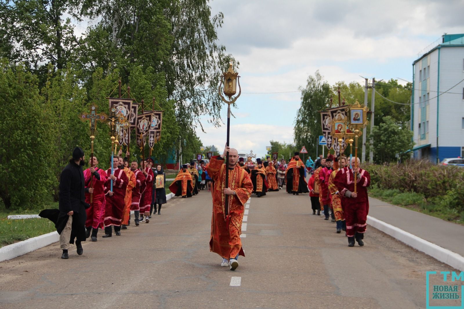
<svg viewBox="0 0 464 309"><path fill-rule="evenodd" d="M105 215L103 218L103 226L121 226L122 212L124 211L124 197L126 196L126 187L129 183L126 173L121 168L116 168L114 171L116 180L108 180L105 183ZM111 174L111 168L106 171L106 174ZM113 196L110 196L110 184L113 181Z"/></svg>

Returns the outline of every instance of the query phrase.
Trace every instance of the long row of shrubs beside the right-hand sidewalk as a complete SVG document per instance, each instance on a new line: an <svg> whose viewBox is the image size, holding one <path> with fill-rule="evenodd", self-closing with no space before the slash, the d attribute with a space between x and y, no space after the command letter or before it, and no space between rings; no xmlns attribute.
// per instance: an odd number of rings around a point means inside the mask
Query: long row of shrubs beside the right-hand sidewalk
<svg viewBox="0 0 464 309"><path fill-rule="evenodd" d="M455 213L464 218L464 168L440 166L428 161L402 164L365 164L373 191L397 205Z"/></svg>

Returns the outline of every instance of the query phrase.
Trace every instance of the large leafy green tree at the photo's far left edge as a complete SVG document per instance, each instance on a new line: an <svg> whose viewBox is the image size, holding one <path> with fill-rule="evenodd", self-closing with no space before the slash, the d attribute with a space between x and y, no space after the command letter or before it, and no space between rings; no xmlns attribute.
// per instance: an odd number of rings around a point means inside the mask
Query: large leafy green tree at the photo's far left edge
<svg viewBox="0 0 464 309"><path fill-rule="evenodd" d="M43 205L55 182L52 135L38 78L0 60L0 197L6 208Z"/></svg>

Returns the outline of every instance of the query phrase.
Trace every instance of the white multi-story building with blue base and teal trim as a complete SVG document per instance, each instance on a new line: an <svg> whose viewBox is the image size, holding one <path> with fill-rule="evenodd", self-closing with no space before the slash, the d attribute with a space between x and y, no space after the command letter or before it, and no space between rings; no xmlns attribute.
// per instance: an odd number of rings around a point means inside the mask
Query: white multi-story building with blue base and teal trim
<svg viewBox="0 0 464 309"><path fill-rule="evenodd" d="M412 63L414 158L432 162L464 156L464 34L441 41Z"/></svg>

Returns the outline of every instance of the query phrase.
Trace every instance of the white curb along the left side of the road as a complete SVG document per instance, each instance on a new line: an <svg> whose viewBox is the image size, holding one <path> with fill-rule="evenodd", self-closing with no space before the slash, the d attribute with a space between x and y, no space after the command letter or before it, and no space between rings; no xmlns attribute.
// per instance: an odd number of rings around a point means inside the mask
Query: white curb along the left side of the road
<svg viewBox="0 0 464 309"><path fill-rule="evenodd" d="M171 200L174 197L174 193L166 194L166 200ZM133 213L133 211L131 212ZM26 219L23 216L29 216L28 218L40 218L39 215L13 215L8 217L21 217L21 218L8 218L8 219ZM32 217L34 216L34 217ZM35 217L37 216L37 217ZM50 232L48 234L32 237L17 243L6 245L0 248L0 262L17 258L26 253L35 251L37 249L52 245L59 241L59 234Z"/></svg>

